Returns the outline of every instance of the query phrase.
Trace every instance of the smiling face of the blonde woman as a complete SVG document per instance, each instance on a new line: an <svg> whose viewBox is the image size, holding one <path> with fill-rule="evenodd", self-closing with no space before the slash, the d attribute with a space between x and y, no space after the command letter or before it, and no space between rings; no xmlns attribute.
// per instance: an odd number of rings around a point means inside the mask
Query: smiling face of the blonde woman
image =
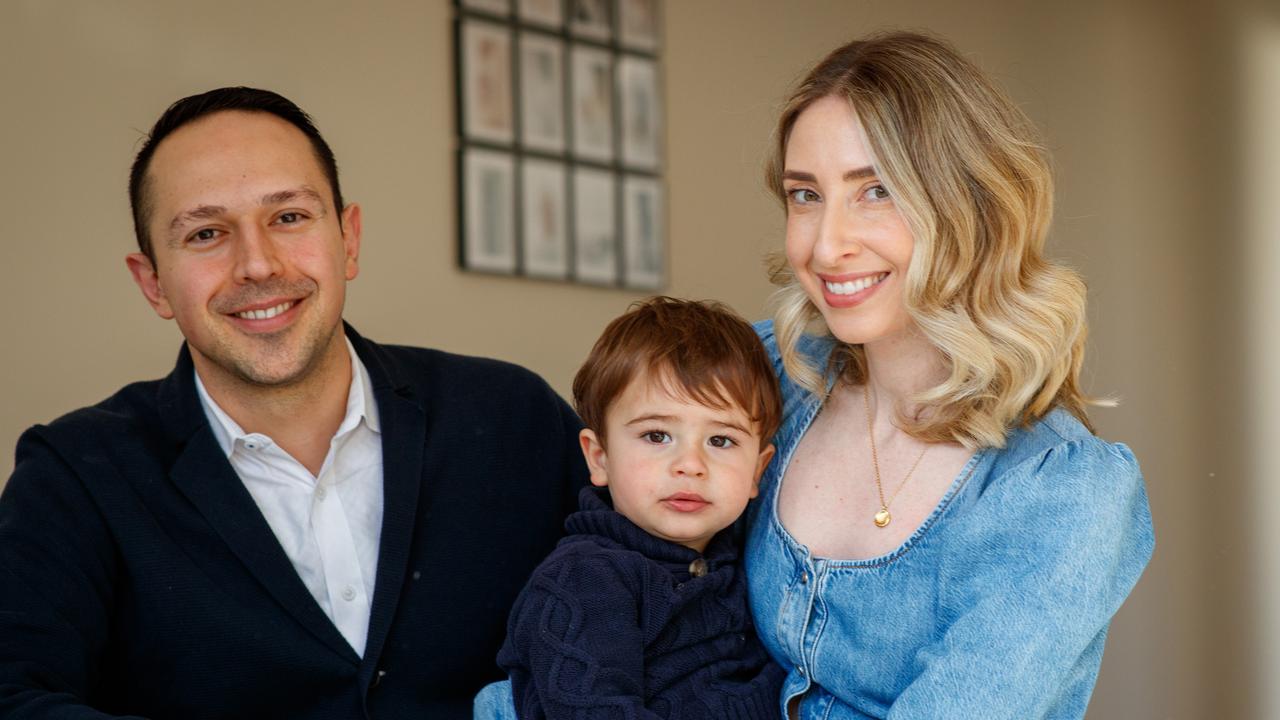
<svg viewBox="0 0 1280 720"><path fill-rule="evenodd" d="M814 101L787 141L787 261L838 340L869 343L911 325L902 301L914 241L876 177L844 99Z"/></svg>

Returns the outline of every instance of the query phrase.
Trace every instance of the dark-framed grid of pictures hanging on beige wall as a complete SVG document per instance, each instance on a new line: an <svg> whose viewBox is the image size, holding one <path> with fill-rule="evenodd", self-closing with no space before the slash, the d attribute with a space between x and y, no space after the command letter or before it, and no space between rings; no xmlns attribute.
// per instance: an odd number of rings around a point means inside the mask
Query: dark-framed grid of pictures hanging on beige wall
<svg viewBox="0 0 1280 720"><path fill-rule="evenodd" d="M456 0L466 270L666 284L658 0Z"/></svg>

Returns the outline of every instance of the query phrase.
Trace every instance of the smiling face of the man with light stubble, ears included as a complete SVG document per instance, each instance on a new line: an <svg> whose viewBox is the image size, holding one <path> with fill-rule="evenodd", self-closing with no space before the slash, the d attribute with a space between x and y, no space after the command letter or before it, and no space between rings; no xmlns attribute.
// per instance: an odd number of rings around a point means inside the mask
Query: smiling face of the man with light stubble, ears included
<svg viewBox="0 0 1280 720"><path fill-rule="evenodd" d="M161 141L147 177L155 263L127 261L156 314L178 322L206 384L293 386L346 354L360 209L339 223L301 131L268 113L216 113Z"/></svg>

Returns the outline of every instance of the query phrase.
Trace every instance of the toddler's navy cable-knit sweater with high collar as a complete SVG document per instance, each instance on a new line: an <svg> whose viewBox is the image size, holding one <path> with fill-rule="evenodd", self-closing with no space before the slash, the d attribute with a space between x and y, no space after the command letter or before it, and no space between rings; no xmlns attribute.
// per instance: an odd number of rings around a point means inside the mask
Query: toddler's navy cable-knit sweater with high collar
<svg viewBox="0 0 1280 720"><path fill-rule="evenodd" d="M783 673L755 635L731 529L704 555L585 488L511 611L498 664L522 720L776 719Z"/></svg>

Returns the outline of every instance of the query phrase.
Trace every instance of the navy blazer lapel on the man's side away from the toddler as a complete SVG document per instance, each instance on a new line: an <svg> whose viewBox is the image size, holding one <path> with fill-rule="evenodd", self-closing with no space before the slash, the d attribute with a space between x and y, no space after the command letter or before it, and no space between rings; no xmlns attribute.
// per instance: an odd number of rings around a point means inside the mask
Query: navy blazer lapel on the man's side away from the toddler
<svg viewBox="0 0 1280 720"><path fill-rule="evenodd" d="M177 369L160 388L165 424L183 436L182 451L170 470L173 483L287 615L339 656L358 664L356 651L298 578L253 496L227 461L195 386L195 368L183 346Z"/></svg>

